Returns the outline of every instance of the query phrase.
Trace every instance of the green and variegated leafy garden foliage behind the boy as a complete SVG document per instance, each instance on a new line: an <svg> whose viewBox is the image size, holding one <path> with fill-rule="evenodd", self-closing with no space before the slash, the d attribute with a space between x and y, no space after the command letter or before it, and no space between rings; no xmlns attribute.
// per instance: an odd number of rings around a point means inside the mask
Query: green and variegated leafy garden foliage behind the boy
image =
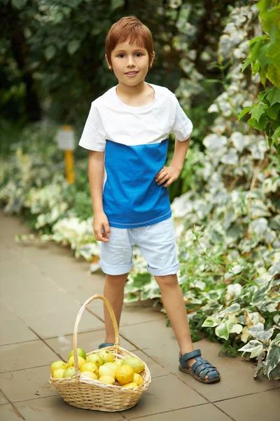
<svg viewBox="0 0 280 421"><path fill-rule="evenodd" d="M169 188L193 340L207 335L221 352L251 358L255 375L279 379L279 3L4 0L0 8L0 202L34 230L21 240L69 244L99 269L87 152L76 149L69 185L55 135L69 123L78 142L90 102L117 83L106 32L137 15L156 52L146 80L174 91L194 124ZM134 253L126 300L161 302Z"/></svg>

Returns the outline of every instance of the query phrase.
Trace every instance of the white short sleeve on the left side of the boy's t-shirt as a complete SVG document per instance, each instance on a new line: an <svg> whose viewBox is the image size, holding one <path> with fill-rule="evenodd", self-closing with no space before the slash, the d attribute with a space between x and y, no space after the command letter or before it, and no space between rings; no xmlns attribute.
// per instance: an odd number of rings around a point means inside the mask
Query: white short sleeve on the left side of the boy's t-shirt
<svg viewBox="0 0 280 421"><path fill-rule="evenodd" d="M94 102L92 102L87 121L85 121L79 145L85 149L97 152L104 152L105 150L106 135L102 119Z"/></svg>

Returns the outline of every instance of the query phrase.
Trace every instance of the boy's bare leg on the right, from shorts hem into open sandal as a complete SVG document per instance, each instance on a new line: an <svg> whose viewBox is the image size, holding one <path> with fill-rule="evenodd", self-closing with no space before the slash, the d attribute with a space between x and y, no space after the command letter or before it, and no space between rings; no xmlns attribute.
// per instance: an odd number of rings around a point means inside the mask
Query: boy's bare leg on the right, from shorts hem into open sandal
<svg viewBox="0 0 280 421"><path fill-rule="evenodd" d="M155 276L155 280L160 286L162 303L179 343L181 355L192 352L194 347L190 337L188 315L177 275ZM195 361L196 359L189 359L188 366L193 366ZM208 375L205 376L205 380L208 380Z"/></svg>

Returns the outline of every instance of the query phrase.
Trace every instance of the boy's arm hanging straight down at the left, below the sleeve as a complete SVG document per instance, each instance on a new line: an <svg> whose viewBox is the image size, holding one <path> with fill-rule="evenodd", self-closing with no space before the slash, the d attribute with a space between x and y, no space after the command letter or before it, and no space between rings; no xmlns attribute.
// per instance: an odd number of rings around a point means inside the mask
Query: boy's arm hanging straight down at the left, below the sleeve
<svg viewBox="0 0 280 421"><path fill-rule="evenodd" d="M104 152L90 151L88 158L88 179L94 213L93 231L97 241L109 241L110 227L103 210L102 194L104 182Z"/></svg>

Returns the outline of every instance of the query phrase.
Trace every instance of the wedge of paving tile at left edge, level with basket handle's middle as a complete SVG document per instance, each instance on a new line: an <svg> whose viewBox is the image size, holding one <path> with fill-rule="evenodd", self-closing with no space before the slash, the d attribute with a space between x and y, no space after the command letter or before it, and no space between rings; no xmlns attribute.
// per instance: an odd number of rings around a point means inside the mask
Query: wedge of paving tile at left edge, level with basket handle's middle
<svg viewBox="0 0 280 421"><path fill-rule="evenodd" d="M0 322L0 345L36 340L37 336L19 319Z"/></svg>

